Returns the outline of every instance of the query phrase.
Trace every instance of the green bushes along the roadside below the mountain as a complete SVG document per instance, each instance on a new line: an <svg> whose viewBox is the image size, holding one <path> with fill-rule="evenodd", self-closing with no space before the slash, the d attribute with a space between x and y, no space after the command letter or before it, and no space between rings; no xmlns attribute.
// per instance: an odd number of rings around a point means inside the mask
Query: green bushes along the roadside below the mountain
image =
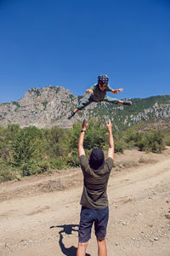
<svg viewBox="0 0 170 256"><path fill-rule="evenodd" d="M77 143L81 130L80 123L74 124L70 130L57 126L52 129L35 126L21 129L20 125L0 127L0 183L79 166ZM170 145L170 129L139 132L128 128L113 132L116 153L123 153L125 148L161 153L166 144ZM91 119L84 141L87 155L94 147L107 151L108 143L105 124Z"/></svg>

